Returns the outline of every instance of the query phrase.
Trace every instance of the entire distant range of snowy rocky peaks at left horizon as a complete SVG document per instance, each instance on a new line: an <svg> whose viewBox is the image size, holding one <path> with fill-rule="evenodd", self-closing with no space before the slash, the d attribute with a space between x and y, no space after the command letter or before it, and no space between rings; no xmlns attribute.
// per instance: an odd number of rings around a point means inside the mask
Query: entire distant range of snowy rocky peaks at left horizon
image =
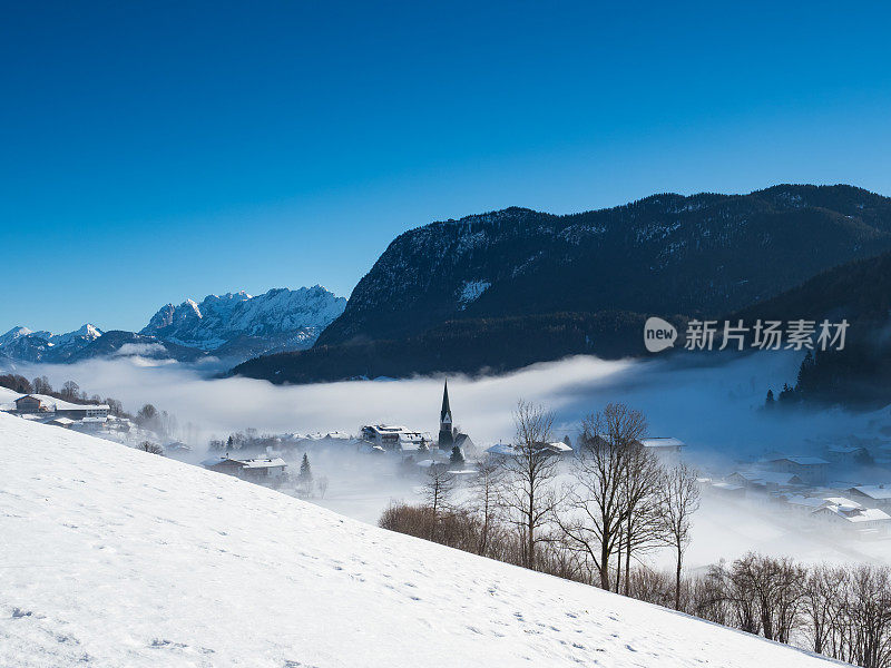
<svg viewBox="0 0 891 668"><path fill-rule="evenodd" d="M346 304L316 285L209 295L163 306L139 332L102 332L84 325L52 334L13 327L0 336L0 355L22 362L71 363L90 357L139 354L195 362L215 356L237 363L254 355L312 346Z"/></svg>

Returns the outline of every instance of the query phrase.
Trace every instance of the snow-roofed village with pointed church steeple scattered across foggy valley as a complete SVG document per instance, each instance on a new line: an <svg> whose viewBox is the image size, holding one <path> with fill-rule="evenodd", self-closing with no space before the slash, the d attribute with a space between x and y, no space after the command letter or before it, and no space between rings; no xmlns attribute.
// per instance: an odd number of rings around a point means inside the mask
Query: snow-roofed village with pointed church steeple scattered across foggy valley
<svg viewBox="0 0 891 668"><path fill-rule="evenodd" d="M429 431L382 423L362 425L355 434L332 431L268 435L247 430L226 440L213 440L208 456L203 460L196 459L198 453L193 446L164 438L167 430L159 429L158 415L120 416L105 403L74 403L39 393L14 396L0 404L0 411L309 499L324 497L330 484L327 475L313 477L311 461L320 456L340 458L339 462L359 456L371 475L385 477L396 471L409 481L423 481L425 477L448 473L461 484L471 481L486 462L516 455L511 443L477 444L470 434L454 426L448 382L435 438ZM676 438L642 438L639 444L666 463L688 459L686 444ZM579 454L569 435L537 446L548 456L567 461ZM891 440L851 435L848 442L826 440L807 443L803 450L806 454L773 452L756 460L699 468L702 495L705 500L781 513L801 523L804 530L834 531L856 540L891 539Z"/></svg>

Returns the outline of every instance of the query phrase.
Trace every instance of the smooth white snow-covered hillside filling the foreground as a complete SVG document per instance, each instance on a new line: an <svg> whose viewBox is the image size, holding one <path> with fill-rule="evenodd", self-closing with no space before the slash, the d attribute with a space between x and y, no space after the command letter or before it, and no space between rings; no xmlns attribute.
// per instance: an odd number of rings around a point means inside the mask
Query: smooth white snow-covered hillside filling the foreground
<svg viewBox="0 0 891 668"><path fill-rule="evenodd" d="M0 414L0 666L825 665Z"/></svg>

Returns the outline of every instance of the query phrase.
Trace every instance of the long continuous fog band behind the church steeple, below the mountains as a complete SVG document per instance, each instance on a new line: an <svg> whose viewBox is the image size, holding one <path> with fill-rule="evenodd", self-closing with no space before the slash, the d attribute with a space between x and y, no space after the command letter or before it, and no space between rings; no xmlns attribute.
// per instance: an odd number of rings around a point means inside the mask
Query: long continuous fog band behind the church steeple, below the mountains
<svg viewBox="0 0 891 668"><path fill-rule="evenodd" d="M784 353L643 362L581 356L500 376L452 376L449 387L457 423L478 443L512 438L511 411L520 397L555 411L557 438L574 438L581 418L623 401L646 413L652 435L677 436L692 452L732 458L800 450L810 438L864 429L865 419L836 411L786 418L758 411L767 387L777 391L794 380L797 363L799 355ZM130 411L153 403L176 415L180 425L194 425L202 440L245 428L355 433L370 422L434 432L443 380L278 386L241 377L208 380L192 367L143 357L16 371L28 377L46 374L57 386L75 380L89 394L120 399Z"/></svg>

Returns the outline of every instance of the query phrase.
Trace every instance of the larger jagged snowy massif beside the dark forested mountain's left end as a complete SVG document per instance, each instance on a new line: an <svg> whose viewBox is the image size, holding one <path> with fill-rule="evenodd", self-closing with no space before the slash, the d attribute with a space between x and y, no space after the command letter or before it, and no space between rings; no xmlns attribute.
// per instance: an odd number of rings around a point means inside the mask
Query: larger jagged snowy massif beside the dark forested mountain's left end
<svg viewBox="0 0 891 668"><path fill-rule="evenodd" d="M270 342L268 350L294 350L310 347L345 306L344 297L321 285L271 289L255 297L246 292L208 295L200 303L163 306L140 334L203 351L247 338Z"/></svg>

